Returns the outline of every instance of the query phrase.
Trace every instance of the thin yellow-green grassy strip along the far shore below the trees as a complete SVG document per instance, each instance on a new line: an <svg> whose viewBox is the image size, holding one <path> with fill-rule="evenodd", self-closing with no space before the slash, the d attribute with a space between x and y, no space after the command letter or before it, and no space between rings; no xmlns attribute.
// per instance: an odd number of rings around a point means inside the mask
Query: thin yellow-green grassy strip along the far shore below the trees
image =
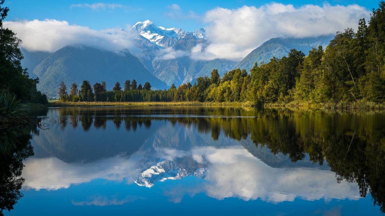
<svg viewBox="0 0 385 216"><path fill-rule="evenodd" d="M50 107L62 106L244 106L244 103L239 102L198 102L198 101L184 101L184 102L59 102L50 101Z"/></svg>

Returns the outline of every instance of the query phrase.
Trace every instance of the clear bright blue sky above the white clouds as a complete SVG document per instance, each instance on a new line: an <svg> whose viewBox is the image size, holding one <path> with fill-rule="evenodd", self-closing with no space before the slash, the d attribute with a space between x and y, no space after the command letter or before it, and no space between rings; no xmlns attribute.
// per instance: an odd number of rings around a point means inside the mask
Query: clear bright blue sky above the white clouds
<svg viewBox="0 0 385 216"><path fill-rule="evenodd" d="M213 8L239 8L243 5L260 7L266 3L278 2L285 5L292 4L294 7L300 7L304 4L314 4L322 6L324 3L330 5L350 5L358 4L371 10L378 6L378 0L281 0L281 1L252 1L252 0L195 0L195 1L124 1L124 0L6 0L5 5L10 7L8 21L17 20L45 20L56 19L66 20L70 25L87 26L95 30L106 28L122 27L134 25L138 21L151 20L156 25L164 27L179 27L187 31L196 30L205 26L203 21L204 14ZM122 5L114 9L92 9L89 7L70 7L77 4L109 3ZM177 4L180 9L172 10L171 5ZM170 15L172 12L172 15Z"/></svg>

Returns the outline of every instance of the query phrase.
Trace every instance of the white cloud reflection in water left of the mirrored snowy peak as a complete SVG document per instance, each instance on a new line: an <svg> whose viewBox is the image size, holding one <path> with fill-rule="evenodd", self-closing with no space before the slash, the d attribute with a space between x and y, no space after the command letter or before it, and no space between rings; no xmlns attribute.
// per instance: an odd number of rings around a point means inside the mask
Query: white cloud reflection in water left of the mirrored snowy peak
<svg viewBox="0 0 385 216"><path fill-rule="evenodd" d="M23 169L26 189L57 190L69 188L71 184L89 182L96 178L110 181L126 181L132 183L131 176L137 176L137 161L123 157L112 157L93 163L65 163L57 158L30 158L25 161L27 169Z"/></svg>

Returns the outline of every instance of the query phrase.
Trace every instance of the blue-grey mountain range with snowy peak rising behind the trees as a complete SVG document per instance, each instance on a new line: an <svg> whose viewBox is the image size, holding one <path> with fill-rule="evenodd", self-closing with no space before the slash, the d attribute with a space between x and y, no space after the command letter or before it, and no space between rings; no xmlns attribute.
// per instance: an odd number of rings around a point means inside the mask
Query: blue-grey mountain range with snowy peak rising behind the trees
<svg viewBox="0 0 385 216"><path fill-rule="evenodd" d="M89 80L91 85L106 81L107 89L112 89L116 81L124 83L127 79L135 79L138 84L143 85L148 81L153 89L164 89L172 84L178 86L187 82L194 83L199 76L209 76L213 69L218 69L221 76L234 68L250 70L255 62L268 62L273 56L281 58L292 48L307 54L311 47L325 47L333 39L332 35L272 38L241 61L195 60L188 55L176 58L159 56L166 49L189 53L198 44L206 47L209 36L205 28L186 32L180 28L157 27L146 20L137 22L126 32L134 35L134 50L110 52L84 45L63 47L54 53L22 49L22 66L29 69L30 76L40 78L37 88L47 96L58 95L61 81L67 86L72 82L80 85L83 80Z"/></svg>

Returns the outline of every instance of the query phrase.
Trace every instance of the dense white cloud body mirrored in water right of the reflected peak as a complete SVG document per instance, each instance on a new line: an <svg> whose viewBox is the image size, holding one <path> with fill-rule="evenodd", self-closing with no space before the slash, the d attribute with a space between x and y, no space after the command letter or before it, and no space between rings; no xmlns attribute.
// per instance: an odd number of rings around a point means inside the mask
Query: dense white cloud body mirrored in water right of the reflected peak
<svg viewBox="0 0 385 216"><path fill-rule="evenodd" d="M311 201L360 198L356 183L337 183L332 171L272 168L248 154L251 155L248 152L234 155L232 163L213 163L209 167L205 187L208 196L216 199L238 197L246 201L262 199L272 203L294 201L295 198Z"/></svg>

